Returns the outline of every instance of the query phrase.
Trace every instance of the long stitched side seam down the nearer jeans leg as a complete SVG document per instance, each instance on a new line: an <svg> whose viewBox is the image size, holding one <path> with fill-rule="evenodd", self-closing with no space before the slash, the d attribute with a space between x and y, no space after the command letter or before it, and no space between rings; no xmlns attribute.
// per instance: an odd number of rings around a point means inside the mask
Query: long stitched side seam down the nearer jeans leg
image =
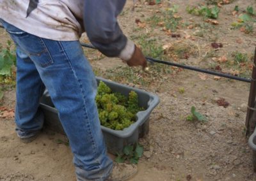
<svg viewBox="0 0 256 181"><path fill-rule="evenodd" d="M58 44L60 45L61 49L63 50L63 54L65 54L65 56L67 57L68 64L69 64L70 68L72 69L72 72L73 72L73 74L74 74L74 76L75 76L75 78L76 78L76 80L77 80L77 83L78 83L78 85L79 85L79 88L80 88L80 91L81 91L81 94L82 94L82 97L83 97L83 102L84 102L84 104L83 104L83 110L84 110L84 112L85 112L85 114L86 114L86 115L84 115L84 116L85 116L86 119L88 119L88 112L87 112L87 109L86 109L86 106L85 106L85 105L86 105L86 101L85 101L85 100L86 100L86 96L84 95L83 90L81 89L81 88L82 88L82 85L81 85L79 79L77 78L76 71L74 71L74 68L73 68L73 66L72 66L72 63L70 62L70 60L69 60L69 58L68 58L68 55L67 55L67 53L65 52L65 49L63 48L61 42L58 41ZM90 134L91 134L91 136L92 136L93 154L95 155L95 153L98 152L98 150L97 150L97 147L95 146L96 144L95 144L95 140L94 140L94 138L93 138L92 127L91 127L90 121L88 121L88 125L89 125L88 127L89 127L89 129L90 129ZM98 163L99 163L99 161L98 161ZM101 169L101 167L100 167L100 169Z"/></svg>

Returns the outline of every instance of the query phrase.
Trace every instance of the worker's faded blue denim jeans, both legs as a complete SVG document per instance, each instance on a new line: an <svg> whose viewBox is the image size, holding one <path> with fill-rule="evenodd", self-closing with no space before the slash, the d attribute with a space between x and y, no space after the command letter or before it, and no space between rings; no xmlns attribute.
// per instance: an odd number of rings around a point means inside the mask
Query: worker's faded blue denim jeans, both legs
<svg viewBox="0 0 256 181"><path fill-rule="evenodd" d="M38 106L45 86L68 136L77 180L106 180L113 162L95 105L97 82L79 41L47 40L1 22L17 45L18 136L29 138L42 129L44 115Z"/></svg>

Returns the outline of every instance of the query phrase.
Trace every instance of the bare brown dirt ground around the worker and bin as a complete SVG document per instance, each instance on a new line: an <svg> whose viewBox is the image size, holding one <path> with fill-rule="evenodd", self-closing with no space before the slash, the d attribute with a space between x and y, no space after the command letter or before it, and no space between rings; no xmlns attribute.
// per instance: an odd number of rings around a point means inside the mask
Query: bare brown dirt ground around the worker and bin
<svg viewBox="0 0 256 181"><path fill-rule="evenodd" d="M161 8L168 6L168 2L164 2ZM183 19L194 22L201 18L189 15L185 10L186 5L202 2L204 1L170 1L179 5L178 13ZM235 4L241 8L252 5L256 9L256 2L252 0L234 1L222 7L221 11L224 13L220 14L220 25L214 29L218 32L218 40L227 45L220 50L220 55L233 50L253 52L256 45L255 34L252 36L228 29L234 20L228 12ZM137 26L135 19L139 17L143 22L157 8L158 5L149 6L141 1L132 11L132 1L128 1L124 15L120 16L124 32L131 36ZM145 27L140 33L147 31L150 29ZM195 29L185 28L177 33L186 36L193 34L193 31ZM159 34L157 38L163 43L176 41L168 36L166 38L163 33ZM237 38L242 43L234 43ZM0 42L4 44L6 40L9 40L8 35L0 29ZM198 38L195 42L202 45L208 41ZM201 51L203 54L204 50ZM97 53L93 52L93 55ZM92 55L88 57L93 59ZM195 62L196 57L191 57L188 61L196 66L205 66L201 62ZM106 71L124 64L116 59L103 57L92 61L92 66ZM140 139L144 154L138 164L138 174L131 180L256 180L256 173L253 173L252 168L252 150L244 136L249 83L214 78L211 75L202 77L201 74L188 70L165 77L161 83L154 80L145 86L130 84L154 92L161 100L150 115L148 135ZM228 101L227 108L216 103L220 98ZM4 91L1 105L14 108L14 89ZM195 106L208 121L187 121L191 106ZM0 124L0 180L76 180L70 148L57 141L65 140L65 136L44 129L35 141L24 144L16 136L13 118L0 117Z"/></svg>

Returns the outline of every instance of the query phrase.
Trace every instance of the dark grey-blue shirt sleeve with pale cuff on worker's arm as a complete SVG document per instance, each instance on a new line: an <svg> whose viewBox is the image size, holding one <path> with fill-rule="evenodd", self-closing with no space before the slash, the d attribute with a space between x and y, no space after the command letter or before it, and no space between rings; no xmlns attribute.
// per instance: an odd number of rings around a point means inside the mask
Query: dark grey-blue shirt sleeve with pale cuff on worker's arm
<svg viewBox="0 0 256 181"><path fill-rule="evenodd" d="M126 0L85 0L84 27L89 40L102 54L127 61L134 52L117 22Z"/></svg>

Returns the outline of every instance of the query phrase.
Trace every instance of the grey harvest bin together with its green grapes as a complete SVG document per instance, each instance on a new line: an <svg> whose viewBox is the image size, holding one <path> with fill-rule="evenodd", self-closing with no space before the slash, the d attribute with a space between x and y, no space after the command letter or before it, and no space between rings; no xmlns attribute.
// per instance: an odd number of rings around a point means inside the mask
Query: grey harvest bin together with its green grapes
<svg viewBox="0 0 256 181"><path fill-rule="evenodd" d="M108 152L116 154L125 145L138 142L148 133L150 113L159 103L159 98L150 92L128 87L97 77L98 92L95 98L102 133ZM65 134L47 91L40 100L45 115L45 125Z"/></svg>

